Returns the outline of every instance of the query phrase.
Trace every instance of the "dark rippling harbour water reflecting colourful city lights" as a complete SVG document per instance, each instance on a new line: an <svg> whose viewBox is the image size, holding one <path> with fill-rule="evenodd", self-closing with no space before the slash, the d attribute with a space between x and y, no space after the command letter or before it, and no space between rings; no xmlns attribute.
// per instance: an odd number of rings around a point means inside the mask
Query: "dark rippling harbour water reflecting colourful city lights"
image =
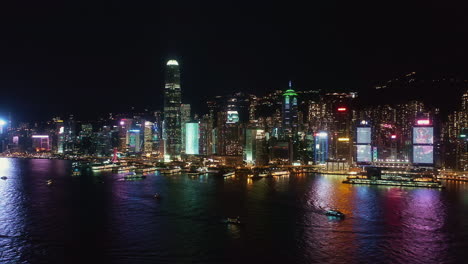
<svg viewBox="0 0 468 264"><path fill-rule="evenodd" d="M464 263L468 183L343 184L186 174L72 176L71 162L0 159L0 263ZM46 181L52 179L53 184ZM154 194L161 199L154 199ZM344 220L323 208L338 208ZM222 223L240 216L245 225ZM92 262L91 262L92 261Z"/></svg>

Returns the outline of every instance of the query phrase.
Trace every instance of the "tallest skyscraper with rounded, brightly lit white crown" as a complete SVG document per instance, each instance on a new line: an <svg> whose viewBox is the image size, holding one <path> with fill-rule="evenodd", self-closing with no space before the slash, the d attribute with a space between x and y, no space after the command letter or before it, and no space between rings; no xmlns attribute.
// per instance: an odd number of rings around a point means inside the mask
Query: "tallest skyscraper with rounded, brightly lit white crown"
<svg viewBox="0 0 468 264"><path fill-rule="evenodd" d="M164 86L164 155L168 159L177 158L182 147L180 70L176 60L166 64Z"/></svg>

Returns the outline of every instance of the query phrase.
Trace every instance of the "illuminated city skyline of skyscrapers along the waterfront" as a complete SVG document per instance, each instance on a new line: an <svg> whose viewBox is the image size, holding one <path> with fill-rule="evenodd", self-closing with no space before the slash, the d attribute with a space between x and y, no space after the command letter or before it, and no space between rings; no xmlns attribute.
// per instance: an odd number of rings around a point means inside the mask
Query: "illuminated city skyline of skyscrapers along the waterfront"
<svg viewBox="0 0 468 264"><path fill-rule="evenodd" d="M401 84L393 80L376 89L406 87L414 78L411 73ZM182 102L178 61L167 61L164 83L162 109L156 111L93 121L70 115L15 126L2 120L2 152L97 157L117 152L165 162L198 158L255 166L420 163L468 169L468 93L444 120L438 108L419 100L362 106L356 92L301 91L290 81L262 96L213 96L206 102L208 112L194 115L190 102Z"/></svg>

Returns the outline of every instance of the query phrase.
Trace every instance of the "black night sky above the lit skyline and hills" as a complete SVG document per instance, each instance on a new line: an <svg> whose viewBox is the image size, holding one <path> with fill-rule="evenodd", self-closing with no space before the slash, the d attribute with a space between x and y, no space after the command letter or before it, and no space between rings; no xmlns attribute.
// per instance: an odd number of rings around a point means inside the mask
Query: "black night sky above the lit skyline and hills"
<svg viewBox="0 0 468 264"><path fill-rule="evenodd" d="M22 120L160 109L164 62L185 103L232 91L355 90L468 73L468 16L446 1L10 1L0 111ZM437 97L437 93L431 93Z"/></svg>

